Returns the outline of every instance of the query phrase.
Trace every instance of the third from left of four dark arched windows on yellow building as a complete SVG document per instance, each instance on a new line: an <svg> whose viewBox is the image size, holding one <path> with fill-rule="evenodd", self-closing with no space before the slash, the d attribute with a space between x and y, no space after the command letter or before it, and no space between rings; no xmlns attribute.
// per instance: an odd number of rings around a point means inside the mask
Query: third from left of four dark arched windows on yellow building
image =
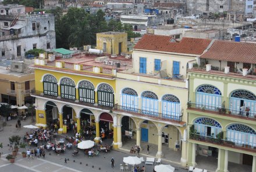
<svg viewBox="0 0 256 172"><path fill-rule="evenodd" d="M95 103L94 85L88 80L82 80L78 85L79 101Z"/></svg>

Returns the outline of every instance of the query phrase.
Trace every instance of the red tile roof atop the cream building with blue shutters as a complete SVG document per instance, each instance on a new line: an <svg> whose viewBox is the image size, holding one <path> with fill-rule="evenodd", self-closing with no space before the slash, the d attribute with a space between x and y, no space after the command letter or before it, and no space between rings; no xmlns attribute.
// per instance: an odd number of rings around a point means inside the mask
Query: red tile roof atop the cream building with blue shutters
<svg viewBox="0 0 256 172"><path fill-rule="evenodd" d="M134 46L134 49L184 54L202 54L211 39L186 38L180 42L170 42L172 36L144 35Z"/></svg>

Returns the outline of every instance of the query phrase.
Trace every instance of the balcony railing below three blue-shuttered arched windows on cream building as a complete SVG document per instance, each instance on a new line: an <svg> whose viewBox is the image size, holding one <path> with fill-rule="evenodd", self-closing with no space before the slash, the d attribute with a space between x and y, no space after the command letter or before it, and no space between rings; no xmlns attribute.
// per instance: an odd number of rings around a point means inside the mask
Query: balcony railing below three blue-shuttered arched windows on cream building
<svg viewBox="0 0 256 172"><path fill-rule="evenodd" d="M118 105L118 104L115 105L115 107L113 108L113 111L127 112L129 114L140 115L140 116L145 116L148 118L159 119L159 120L169 120L172 122L181 122L182 121L182 115L180 115L180 116L168 115L168 118L167 118L167 117L163 116L163 114L158 113L158 112L151 112L151 111L145 111L143 109L124 107L124 106Z"/></svg>

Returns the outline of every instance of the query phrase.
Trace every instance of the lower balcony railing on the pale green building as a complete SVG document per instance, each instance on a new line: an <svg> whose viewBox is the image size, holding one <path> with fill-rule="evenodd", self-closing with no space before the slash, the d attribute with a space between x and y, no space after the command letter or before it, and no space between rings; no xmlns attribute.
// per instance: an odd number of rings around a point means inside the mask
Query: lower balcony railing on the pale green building
<svg viewBox="0 0 256 172"><path fill-rule="evenodd" d="M237 148L237 149L243 149L246 151L253 151L256 152L256 145L254 144L249 144L247 142L244 142L244 144L239 144L230 140L225 140L225 139L218 139L216 137L211 137L211 136L203 136L200 134L195 134L195 133L190 133L189 136L190 140L197 140L201 142L209 142L211 144L216 144L216 145L223 145L224 147L232 147L232 148Z"/></svg>

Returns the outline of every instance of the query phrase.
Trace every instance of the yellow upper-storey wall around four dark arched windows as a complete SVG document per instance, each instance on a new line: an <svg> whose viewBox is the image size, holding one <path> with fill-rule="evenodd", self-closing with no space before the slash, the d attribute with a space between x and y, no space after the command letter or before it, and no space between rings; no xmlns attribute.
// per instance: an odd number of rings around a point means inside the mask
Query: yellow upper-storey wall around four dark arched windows
<svg viewBox="0 0 256 172"><path fill-rule="evenodd" d="M63 77L68 77L74 80L74 83L76 84L76 86L79 84L79 82L81 80L89 80L90 82L93 83L95 89L97 89L97 86L99 83L108 83L109 85L111 85L113 87L113 90L115 91L115 80L108 80L108 79L104 79L104 78L91 78L90 76L78 76L76 74L63 74L60 72L52 72L52 71L44 71L41 69L35 69L35 89L39 92L43 92L43 84L42 84L42 76L44 76L45 74L51 74L54 75L55 78L58 80L58 83L60 81L61 78ZM58 87L60 90L60 87ZM58 92L59 96L61 94L61 92ZM97 93L95 93L95 97L96 100L95 102L97 102ZM78 98L78 97L76 97Z"/></svg>

